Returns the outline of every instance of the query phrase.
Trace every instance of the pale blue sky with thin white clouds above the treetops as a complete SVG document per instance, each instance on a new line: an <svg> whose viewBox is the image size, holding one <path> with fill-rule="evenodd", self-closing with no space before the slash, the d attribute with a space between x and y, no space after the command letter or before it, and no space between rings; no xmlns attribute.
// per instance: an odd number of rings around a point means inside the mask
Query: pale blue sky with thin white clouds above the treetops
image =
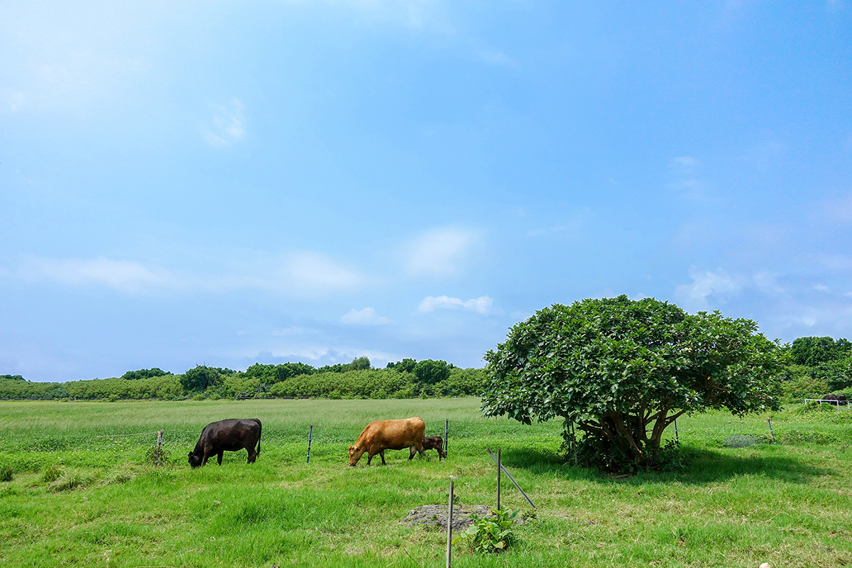
<svg viewBox="0 0 852 568"><path fill-rule="evenodd" d="M852 3L0 6L0 374L852 336Z"/></svg>

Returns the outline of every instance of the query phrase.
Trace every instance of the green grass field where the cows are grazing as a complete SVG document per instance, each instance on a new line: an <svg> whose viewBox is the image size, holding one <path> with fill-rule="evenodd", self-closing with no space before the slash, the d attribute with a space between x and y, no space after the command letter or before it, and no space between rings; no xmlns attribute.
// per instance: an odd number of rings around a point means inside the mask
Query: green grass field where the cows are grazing
<svg viewBox="0 0 852 568"><path fill-rule="evenodd" d="M561 424L483 419L478 399L4 402L0 565L443 566L446 534L403 525L408 511L446 504L450 475L463 505L493 504L486 447L536 503L508 552L462 543L454 566L852 565L852 411L776 413L779 444L726 448L731 435L768 438L767 416L710 413L678 421L695 453L687 471L628 479L561 461ZM348 468L347 447L372 420L421 416L427 434L450 421L449 459L435 451ZM187 464L202 427L260 418L262 452ZM311 462L305 463L314 424ZM148 462L165 430L169 460ZM103 437L151 433L143 436ZM671 438L674 432L671 432ZM378 459L378 458L376 458ZM504 478L504 508L533 509Z"/></svg>

